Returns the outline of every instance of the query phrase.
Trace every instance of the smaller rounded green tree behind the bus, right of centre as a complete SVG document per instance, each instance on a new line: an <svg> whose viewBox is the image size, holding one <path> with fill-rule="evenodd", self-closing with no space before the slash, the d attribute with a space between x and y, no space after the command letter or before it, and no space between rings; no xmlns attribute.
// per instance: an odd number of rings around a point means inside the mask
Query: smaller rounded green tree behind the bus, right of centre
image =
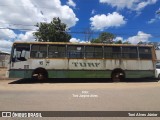
<svg viewBox="0 0 160 120"><path fill-rule="evenodd" d="M102 32L98 38L92 39L91 43L113 43L115 35L108 32Z"/></svg>

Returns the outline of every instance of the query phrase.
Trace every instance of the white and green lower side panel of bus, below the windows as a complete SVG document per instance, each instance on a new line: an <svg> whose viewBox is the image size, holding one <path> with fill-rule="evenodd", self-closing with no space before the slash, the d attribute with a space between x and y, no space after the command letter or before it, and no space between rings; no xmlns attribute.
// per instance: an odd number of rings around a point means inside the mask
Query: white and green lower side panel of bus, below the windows
<svg viewBox="0 0 160 120"><path fill-rule="evenodd" d="M127 78L154 77L155 74L151 60L120 62L119 60L34 59L32 62L15 62L10 69L9 77L29 78L33 70L38 67L45 68L49 78L110 78L112 71L116 68L123 69Z"/></svg>

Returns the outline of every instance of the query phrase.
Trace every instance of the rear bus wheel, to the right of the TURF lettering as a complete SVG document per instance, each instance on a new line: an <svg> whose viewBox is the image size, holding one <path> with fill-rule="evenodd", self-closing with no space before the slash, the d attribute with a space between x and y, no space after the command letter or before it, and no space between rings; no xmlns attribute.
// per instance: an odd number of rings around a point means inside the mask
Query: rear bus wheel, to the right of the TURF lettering
<svg viewBox="0 0 160 120"><path fill-rule="evenodd" d="M120 82L125 79L125 73L122 69L114 69L111 73L111 79L113 82Z"/></svg>

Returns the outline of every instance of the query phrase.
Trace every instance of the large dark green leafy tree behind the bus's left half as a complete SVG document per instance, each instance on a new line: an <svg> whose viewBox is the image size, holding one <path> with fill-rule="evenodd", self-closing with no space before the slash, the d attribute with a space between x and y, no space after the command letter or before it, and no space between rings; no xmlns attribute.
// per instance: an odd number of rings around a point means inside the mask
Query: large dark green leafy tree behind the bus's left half
<svg viewBox="0 0 160 120"><path fill-rule="evenodd" d="M50 23L37 23L37 32L34 32L36 41L39 42L69 42L71 35L66 33L67 25L61 23L59 18L53 18Z"/></svg>

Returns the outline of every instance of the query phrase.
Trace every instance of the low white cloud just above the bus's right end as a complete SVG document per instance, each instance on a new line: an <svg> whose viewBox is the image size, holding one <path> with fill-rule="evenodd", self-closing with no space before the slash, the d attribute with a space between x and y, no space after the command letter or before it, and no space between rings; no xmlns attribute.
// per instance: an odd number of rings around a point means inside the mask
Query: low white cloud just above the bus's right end
<svg viewBox="0 0 160 120"><path fill-rule="evenodd" d="M149 41L149 38L151 38L152 35L151 34L147 34L147 33L144 33L142 31L138 31L137 35L136 36L132 36L132 37L129 37L128 39L126 39L125 41L128 41L132 44L137 44L139 43L140 41L141 42L148 42Z"/></svg>

